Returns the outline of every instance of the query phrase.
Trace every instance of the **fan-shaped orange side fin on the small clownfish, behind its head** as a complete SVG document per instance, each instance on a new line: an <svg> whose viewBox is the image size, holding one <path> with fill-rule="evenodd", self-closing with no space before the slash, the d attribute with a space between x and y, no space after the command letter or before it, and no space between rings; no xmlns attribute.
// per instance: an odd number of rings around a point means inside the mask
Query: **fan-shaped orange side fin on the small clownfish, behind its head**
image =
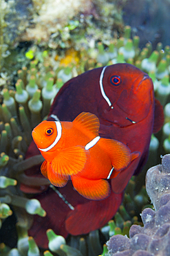
<svg viewBox="0 0 170 256"><path fill-rule="evenodd" d="M84 147L68 147L61 150L52 160L52 169L56 174L75 175L83 170L87 156Z"/></svg>

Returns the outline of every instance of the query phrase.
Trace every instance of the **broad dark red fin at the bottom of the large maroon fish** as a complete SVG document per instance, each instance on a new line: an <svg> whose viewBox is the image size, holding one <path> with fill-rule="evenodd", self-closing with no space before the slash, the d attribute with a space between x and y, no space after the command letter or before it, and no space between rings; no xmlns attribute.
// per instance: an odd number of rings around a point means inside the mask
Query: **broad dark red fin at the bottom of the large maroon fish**
<svg viewBox="0 0 170 256"><path fill-rule="evenodd" d="M82 235L103 227L116 214L123 193L111 194L102 201L79 203L70 211L65 221L65 227L71 235Z"/></svg>

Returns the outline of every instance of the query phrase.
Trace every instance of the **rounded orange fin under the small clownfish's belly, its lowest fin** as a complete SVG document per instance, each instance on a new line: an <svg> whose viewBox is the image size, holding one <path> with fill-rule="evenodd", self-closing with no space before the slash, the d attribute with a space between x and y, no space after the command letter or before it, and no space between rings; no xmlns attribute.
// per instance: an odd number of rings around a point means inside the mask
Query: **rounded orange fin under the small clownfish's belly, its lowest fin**
<svg viewBox="0 0 170 256"><path fill-rule="evenodd" d="M102 200L109 196L109 183L103 179L89 180L78 175L71 179L75 190L87 199Z"/></svg>

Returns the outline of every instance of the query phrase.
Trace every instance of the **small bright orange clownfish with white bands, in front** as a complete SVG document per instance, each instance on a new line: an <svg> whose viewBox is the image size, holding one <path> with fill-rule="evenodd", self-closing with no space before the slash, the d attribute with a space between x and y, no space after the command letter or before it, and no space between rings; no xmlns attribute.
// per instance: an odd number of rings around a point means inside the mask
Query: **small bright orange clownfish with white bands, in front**
<svg viewBox="0 0 170 256"><path fill-rule="evenodd" d="M42 174L63 187L71 178L79 194L100 200L109 196L107 179L114 179L139 152L118 140L100 138L100 123L92 113L81 113L73 122L43 121L32 131L32 137L45 161Z"/></svg>

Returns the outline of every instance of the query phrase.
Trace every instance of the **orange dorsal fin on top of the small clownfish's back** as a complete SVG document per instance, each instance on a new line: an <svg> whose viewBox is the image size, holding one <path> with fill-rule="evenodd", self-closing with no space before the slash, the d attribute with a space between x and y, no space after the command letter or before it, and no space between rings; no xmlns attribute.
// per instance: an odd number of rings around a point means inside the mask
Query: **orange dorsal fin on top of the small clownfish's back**
<svg viewBox="0 0 170 256"><path fill-rule="evenodd" d="M82 112L73 120L73 125L76 125L79 129L86 129L91 131L92 134L98 136L98 129L100 127L100 122L96 115L89 112Z"/></svg>

